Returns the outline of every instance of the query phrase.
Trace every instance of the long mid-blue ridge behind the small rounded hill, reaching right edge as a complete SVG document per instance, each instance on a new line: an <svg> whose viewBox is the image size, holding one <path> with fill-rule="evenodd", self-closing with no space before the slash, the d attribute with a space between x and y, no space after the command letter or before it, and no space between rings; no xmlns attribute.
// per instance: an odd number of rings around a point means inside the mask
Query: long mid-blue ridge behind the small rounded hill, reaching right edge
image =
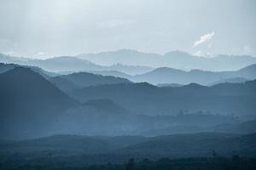
<svg viewBox="0 0 256 170"><path fill-rule="evenodd" d="M81 102L89 99L111 99L125 109L147 115L170 115L179 111L254 115L255 92L254 80L212 87L191 83L177 88L159 88L146 82L108 84L74 90L70 95Z"/></svg>

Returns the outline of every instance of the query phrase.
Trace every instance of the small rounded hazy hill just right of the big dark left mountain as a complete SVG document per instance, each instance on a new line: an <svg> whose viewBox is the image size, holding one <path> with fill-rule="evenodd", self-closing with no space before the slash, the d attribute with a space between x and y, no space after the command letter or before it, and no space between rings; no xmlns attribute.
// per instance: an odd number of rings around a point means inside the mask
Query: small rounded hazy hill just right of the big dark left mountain
<svg viewBox="0 0 256 170"><path fill-rule="evenodd" d="M63 112L53 133L130 135L154 127L149 122L158 124L154 117L134 114L109 99L95 99Z"/></svg>

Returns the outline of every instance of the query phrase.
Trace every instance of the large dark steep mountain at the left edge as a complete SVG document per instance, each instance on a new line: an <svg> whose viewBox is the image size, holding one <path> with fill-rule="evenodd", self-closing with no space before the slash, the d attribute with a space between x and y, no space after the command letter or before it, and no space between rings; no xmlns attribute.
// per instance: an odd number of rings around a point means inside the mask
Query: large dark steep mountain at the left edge
<svg viewBox="0 0 256 170"><path fill-rule="evenodd" d="M29 68L6 71L0 82L1 134L6 138L40 136L62 111L77 105Z"/></svg>

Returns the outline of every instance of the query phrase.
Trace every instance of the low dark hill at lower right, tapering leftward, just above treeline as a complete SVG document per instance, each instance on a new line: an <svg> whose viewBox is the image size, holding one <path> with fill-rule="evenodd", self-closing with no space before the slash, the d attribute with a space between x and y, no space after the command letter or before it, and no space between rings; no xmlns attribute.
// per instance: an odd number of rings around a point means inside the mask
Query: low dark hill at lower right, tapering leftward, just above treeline
<svg viewBox="0 0 256 170"><path fill-rule="evenodd" d="M162 155L175 157L220 156L256 151L256 134L236 136L224 133L195 133L160 136L141 144L126 147L121 152L138 155Z"/></svg>

